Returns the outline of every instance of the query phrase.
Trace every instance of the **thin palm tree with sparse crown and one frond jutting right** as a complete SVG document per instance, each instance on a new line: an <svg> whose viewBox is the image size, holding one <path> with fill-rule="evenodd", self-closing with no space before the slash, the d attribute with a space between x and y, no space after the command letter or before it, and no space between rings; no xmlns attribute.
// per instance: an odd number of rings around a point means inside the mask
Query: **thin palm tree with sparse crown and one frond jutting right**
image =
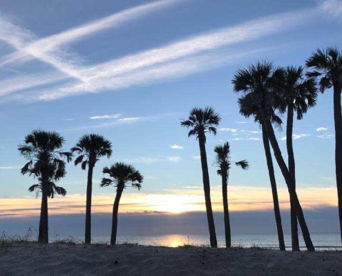
<svg viewBox="0 0 342 276"><path fill-rule="evenodd" d="M228 195L227 195L227 186L228 186L228 178L229 178L229 169L231 168L231 159L230 159L230 147L229 143L218 145L213 150L216 152L216 166L218 167L218 175L222 177L222 197L223 197L223 212L225 215L225 238L226 238L226 247L231 247L231 233L230 233L230 221L229 221L229 208L228 208ZM236 166L240 166L243 170L247 170L249 168L249 164L246 160L241 160L238 162L234 162Z"/></svg>

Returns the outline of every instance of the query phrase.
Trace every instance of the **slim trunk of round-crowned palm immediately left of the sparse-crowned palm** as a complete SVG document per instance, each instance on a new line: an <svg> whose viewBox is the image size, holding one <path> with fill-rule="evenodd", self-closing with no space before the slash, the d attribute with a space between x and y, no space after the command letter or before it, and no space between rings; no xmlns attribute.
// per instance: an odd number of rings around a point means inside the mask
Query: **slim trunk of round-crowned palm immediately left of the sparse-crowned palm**
<svg viewBox="0 0 342 276"><path fill-rule="evenodd" d="M215 224L213 222L213 209L211 208L209 171L207 164L207 152L205 150L205 135L198 137L200 143L200 160L202 164L203 188L205 190L205 207L207 208L207 219L209 225L210 246L218 247L216 239Z"/></svg>

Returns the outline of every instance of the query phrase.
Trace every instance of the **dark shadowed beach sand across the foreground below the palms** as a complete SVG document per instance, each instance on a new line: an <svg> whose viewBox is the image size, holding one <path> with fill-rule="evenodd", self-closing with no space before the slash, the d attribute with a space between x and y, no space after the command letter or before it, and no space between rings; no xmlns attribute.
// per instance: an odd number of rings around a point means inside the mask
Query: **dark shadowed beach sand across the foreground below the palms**
<svg viewBox="0 0 342 276"><path fill-rule="evenodd" d="M0 275L342 275L342 252L32 244L0 248Z"/></svg>

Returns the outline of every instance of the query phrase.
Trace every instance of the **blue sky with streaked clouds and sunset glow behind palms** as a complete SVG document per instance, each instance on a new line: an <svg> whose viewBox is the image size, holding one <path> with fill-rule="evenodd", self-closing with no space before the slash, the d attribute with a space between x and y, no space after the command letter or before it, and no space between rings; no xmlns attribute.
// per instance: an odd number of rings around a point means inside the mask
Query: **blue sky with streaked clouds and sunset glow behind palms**
<svg viewBox="0 0 342 276"><path fill-rule="evenodd" d="M231 79L259 60L300 66L316 48L340 47L341 16L339 0L1 1L0 226L19 227L10 224L18 219L26 226L39 215L39 197L28 192L35 180L20 174L25 159L17 151L37 128L60 132L66 149L90 133L113 143L113 156L95 166L93 213L111 213L115 188L100 188L99 181L115 161L144 175L142 190L124 191L121 213L203 212L198 141L180 127L193 106L212 106L222 117L218 135L207 136L213 210L222 212L213 148L229 141L232 159L250 164L247 171L231 168L230 210L272 219L260 128L239 114ZM285 132L277 136L286 158ZM335 221L332 91L295 121L294 150L305 212L314 218L324 210ZM67 170L59 186L68 194L50 200L50 215L70 220L84 214L86 172L73 164ZM276 178L285 212L278 168Z"/></svg>

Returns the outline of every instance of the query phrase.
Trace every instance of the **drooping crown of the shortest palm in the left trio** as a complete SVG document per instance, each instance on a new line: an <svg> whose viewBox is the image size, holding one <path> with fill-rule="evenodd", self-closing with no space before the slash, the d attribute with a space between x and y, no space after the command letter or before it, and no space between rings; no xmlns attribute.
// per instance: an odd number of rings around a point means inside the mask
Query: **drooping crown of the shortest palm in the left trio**
<svg viewBox="0 0 342 276"><path fill-rule="evenodd" d="M121 162L115 163L111 168L104 167L102 172L108 174L111 179L103 178L100 184L101 187L113 185L118 190L124 190L127 184L130 183L133 188L140 190L144 180L139 170L135 170L133 166Z"/></svg>

